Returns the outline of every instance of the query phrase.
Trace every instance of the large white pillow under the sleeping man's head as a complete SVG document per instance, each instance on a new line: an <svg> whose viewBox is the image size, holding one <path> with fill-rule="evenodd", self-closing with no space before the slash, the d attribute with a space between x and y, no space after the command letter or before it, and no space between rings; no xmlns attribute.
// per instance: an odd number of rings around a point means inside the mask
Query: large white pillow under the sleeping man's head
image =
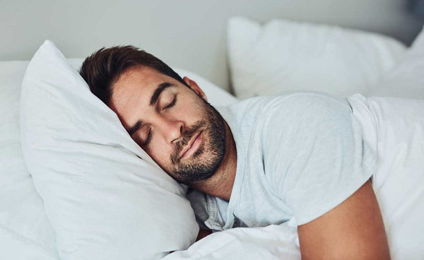
<svg viewBox="0 0 424 260"><path fill-rule="evenodd" d="M184 188L49 40L30 61L20 98L23 156L62 260L160 259L194 242L199 226Z"/></svg>

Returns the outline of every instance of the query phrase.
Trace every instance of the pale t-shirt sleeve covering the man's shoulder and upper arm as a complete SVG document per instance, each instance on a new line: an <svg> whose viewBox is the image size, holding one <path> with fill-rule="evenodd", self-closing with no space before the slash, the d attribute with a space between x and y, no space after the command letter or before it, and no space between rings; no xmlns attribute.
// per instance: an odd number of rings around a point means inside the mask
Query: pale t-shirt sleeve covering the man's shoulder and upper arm
<svg viewBox="0 0 424 260"><path fill-rule="evenodd" d="M346 100L276 98L261 119L266 179L297 225L338 206L375 172L376 156Z"/></svg>

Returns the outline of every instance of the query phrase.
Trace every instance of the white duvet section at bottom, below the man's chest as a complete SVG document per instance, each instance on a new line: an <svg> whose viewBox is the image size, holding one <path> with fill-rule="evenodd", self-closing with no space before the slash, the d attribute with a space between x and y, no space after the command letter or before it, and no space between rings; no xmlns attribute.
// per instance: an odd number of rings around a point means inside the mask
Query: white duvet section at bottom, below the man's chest
<svg viewBox="0 0 424 260"><path fill-rule="evenodd" d="M163 258L177 259L300 259L298 232L285 223L266 228L233 228L214 232L189 249Z"/></svg>

